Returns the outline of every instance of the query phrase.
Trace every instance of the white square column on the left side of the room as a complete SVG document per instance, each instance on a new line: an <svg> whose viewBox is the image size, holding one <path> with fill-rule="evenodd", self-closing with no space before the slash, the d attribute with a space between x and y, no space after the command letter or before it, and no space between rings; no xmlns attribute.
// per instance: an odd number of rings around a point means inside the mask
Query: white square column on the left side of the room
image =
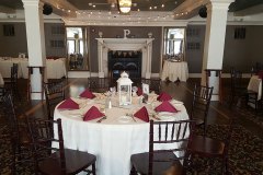
<svg viewBox="0 0 263 175"><path fill-rule="evenodd" d="M43 20L43 2L39 0L22 0L24 3L28 66L44 67L46 65L46 48ZM31 75L32 100L42 98L42 77L39 70L33 70Z"/></svg>

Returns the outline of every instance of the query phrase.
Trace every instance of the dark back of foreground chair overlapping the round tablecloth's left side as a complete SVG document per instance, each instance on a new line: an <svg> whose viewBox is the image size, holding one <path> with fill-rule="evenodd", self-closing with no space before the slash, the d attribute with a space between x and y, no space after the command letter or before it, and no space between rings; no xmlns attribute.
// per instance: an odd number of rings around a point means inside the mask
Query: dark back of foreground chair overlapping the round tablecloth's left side
<svg viewBox="0 0 263 175"><path fill-rule="evenodd" d="M59 162L61 174L66 174L61 119L44 120L27 118L27 125L34 147L33 152L36 171L39 171L38 164L42 161L50 159L54 162ZM54 152L58 154L54 155Z"/></svg>

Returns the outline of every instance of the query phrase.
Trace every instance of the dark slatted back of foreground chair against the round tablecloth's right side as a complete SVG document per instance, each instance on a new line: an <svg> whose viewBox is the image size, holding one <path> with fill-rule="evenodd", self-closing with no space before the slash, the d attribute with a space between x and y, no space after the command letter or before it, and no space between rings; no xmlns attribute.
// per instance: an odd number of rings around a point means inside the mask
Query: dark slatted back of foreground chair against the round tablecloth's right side
<svg viewBox="0 0 263 175"><path fill-rule="evenodd" d="M153 121L150 120L149 132L149 165L148 174L152 175L153 162L178 162L183 161L183 165L187 165L188 145L192 140L195 121ZM165 145L167 147L165 147ZM165 149L158 149L158 147ZM158 153L172 152L174 158L156 158Z"/></svg>

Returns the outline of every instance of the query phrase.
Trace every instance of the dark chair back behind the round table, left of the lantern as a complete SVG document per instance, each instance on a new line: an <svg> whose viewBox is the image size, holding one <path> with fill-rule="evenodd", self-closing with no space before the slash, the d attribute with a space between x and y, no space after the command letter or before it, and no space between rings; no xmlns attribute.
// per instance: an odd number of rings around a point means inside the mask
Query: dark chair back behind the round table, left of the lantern
<svg viewBox="0 0 263 175"><path fill-rule="evenodd" d="M88 78L88 88L92 92L107 92L112 85L110 78Z"/></svg>

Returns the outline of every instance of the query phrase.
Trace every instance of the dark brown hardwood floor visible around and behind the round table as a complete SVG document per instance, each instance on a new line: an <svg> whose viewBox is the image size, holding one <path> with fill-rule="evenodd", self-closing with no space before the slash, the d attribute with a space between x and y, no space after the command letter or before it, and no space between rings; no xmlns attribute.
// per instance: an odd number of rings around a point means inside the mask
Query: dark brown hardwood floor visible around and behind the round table
<svg viewBox="0 0 263 175"><path fill-rule="evenodd" d="M164 92L168 92L170 95L172 95L174 98L184 102L187 112L191 112L191 105L192 105L192 91L195 83L199 83L199 79L188 79L187 82L180 82L180 83L173 83L173 82L162 82L161 89ZM247 82L245 82L247 83ZM20 80L20 89L23 93L22 95L25 95L25 80ZM88 85L88 79L68 79L66 89L66 97L67 96L76 96L78 92L81 92L84 90ZM237 116L238 120L237 122L244 128L247 128L252 133L256 135L261 139L263 139L263 132L262 128L256 125L255 122L247 119L245 117L240 117L240 113L238 113L237 107L229 106L228 103L228 94L230 89L230 82L228 79L224 80L224 102L222 104L218 102L211 102L210 109L208 113L208 124L228 124L228 119L231 116ZM34 115L34 116L46 116L46 108L45 108L45 102L43 101L32 101L32 106L26 110L27 114ZM259 114L260 117L263 117L262 113ZM263 119L262 119L263 120Z"/></svg>

